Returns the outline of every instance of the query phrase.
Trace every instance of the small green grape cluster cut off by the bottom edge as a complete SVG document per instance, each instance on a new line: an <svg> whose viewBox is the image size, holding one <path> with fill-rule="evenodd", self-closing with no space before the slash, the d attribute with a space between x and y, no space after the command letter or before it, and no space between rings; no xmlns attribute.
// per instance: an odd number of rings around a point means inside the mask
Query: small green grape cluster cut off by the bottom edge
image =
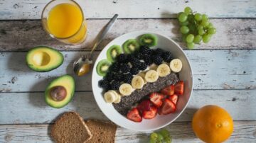
<svg viewBox="0 0 256 143"><path fill-rule="evenodd" d="M159 132L152 132L150 135L149 143L171 143L171 135L168 130L161 130Z"/></svg>

